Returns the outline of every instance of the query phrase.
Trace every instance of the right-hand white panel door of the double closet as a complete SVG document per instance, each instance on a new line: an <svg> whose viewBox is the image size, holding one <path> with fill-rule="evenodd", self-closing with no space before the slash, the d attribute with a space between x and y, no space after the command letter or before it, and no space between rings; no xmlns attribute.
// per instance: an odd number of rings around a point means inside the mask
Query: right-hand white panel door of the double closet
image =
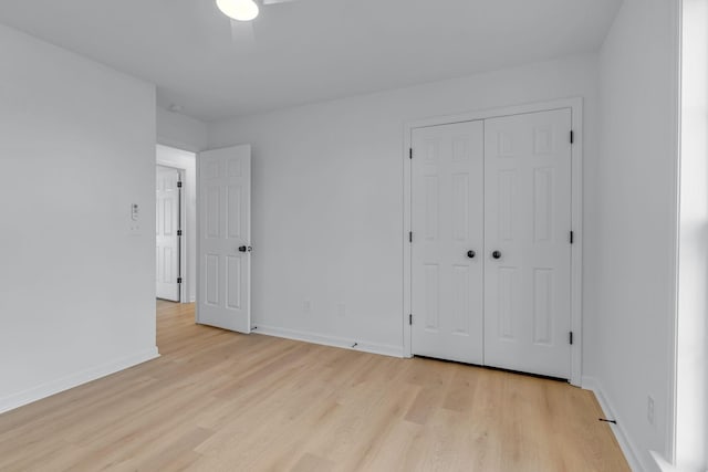
<svg viewBox="0 0 708 472"><path fill-rule="evenodd" d="M570 109L485 122L488 366L570 378Z"/></svg>

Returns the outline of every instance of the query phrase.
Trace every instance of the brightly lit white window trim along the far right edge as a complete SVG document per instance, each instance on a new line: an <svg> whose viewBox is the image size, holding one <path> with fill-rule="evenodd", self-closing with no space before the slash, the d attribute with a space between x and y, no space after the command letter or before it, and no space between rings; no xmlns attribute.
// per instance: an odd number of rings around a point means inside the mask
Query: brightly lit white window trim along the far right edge
<svg viewBox="0 0 708 472"><path fill-rule="evenodd" d="M708 469L708 0L684 0L677 462Z"/></svg>

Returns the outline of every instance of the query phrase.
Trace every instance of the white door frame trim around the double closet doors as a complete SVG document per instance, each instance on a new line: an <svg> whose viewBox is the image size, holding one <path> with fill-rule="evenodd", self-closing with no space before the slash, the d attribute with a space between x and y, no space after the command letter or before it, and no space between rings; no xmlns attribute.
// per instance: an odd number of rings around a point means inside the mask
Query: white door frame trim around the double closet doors
<svg viewBox="0 0 708 472"><path fill-rule="evenodd" d="M571 331L573 344L571 345L571 378L570 382L581 386L582 354L583 354L583 98L572 97L548 102L531 103L525 105L489 108L478 112L469 112L458 115L437 116L416 119L404 124L404 153L403 153L403 353L404 357L413 357L413 329L409 324L412 314L412 280L413 266L412 244L408 240L412 231L412 136L416 128L450 125L455 123L475 122L488 118L498 118L527 113L550 112L553 109L571 109L571 128L573 129L573 146L571 147L571 223L574 234L571 245ZM415 158L415 157L414 157ZM414 314L415 315L415 314Z"/></svg>

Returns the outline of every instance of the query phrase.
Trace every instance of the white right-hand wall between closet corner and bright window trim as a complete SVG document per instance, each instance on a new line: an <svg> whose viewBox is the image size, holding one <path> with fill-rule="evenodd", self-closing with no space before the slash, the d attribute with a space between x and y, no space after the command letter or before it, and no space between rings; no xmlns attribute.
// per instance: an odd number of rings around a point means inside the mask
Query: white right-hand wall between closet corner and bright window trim
<svg viewBox="0 0 708 472"><path fill-rule="evenodd" d="M596 331L593 376L634 453L655 470L671 429L676 264L676 9L625 0L601 51L602 151L596 185L597 264L585 297ZM647 397L655 401L654 424ZM636 458L633 458L636 455Z"/></svg>

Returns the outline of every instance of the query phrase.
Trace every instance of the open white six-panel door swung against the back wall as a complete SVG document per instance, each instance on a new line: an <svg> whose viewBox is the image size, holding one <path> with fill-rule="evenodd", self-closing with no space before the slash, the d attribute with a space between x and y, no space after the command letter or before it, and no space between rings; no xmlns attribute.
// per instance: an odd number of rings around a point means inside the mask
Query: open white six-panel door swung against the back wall
<svg viewBox="0 0 708 472"><path fill-rule="evenodd" d="M251 331L251 147L199 154L197 322Z"/></svg>

